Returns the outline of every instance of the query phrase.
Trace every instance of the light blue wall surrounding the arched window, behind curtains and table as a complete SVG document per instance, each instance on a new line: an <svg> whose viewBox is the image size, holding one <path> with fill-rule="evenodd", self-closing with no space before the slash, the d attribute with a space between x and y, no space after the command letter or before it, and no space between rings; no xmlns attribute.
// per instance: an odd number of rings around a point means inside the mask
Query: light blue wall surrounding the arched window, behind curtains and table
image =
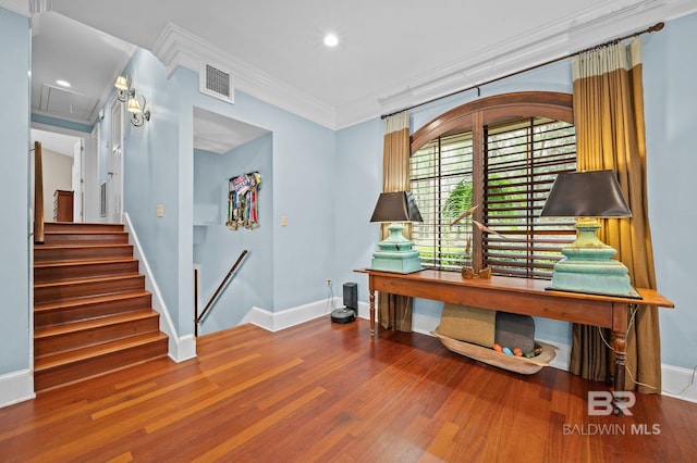
<svg viewBox="0 0 697 463"><path fill-rule="evenodd" d="M697 14L669 22L645 36L644 68L648 150L649 211L655 246L658 289L676 304L661 310L663 363L692 368L697 364L697 311L692 291L697 284L694 263L697 249L692 230L697 227L694 196L697 172ZM572 91L571 64L558 62L481 88L481 97L542 90ZM412 133L439 114L473 101L476 90L415 109ZM367 302L367 278L352 268L370 265L378 227L367 225L381 188L382 125L366 122L339 130L338 136L337 265L338 274L358 283L358 297ZM354 164L355 161L355 164ZM358 182L360 192L346 186ZM678 200L676 200L678 199ZM343 212L348 213L344 214ZM356 233L346 232L355 229ZM440 316L442 303L418 299L416 316ZM571 345L571 325L536 318L537 337Z"/></svg>

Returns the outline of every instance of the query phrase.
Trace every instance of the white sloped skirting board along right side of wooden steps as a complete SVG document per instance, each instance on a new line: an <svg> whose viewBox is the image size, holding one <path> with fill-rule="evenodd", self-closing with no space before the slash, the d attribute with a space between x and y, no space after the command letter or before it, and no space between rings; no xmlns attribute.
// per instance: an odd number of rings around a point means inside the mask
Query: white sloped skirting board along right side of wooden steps
<svg viewBox="0 0 697 463"><path fill-rule="evenodd" d="M174 362L183 362L196 356L196 338L193 335L179 337L170 313L164 304L162 292L155 280L150 264L143 252L138 235L133 228L133 223L129 213L123 214L123 223L129 232L129 242L133 245L134 256L140 262L143 274L145 275L145 289L152 293L152 309L160 314L160 330L169 337L168 355Z"/></svg>

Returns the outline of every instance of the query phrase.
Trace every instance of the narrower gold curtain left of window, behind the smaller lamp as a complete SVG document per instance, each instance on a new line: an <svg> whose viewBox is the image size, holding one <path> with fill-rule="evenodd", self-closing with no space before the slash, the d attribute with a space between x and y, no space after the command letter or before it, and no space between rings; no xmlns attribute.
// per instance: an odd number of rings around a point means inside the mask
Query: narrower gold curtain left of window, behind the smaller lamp
<svg viewBox="0 0 697 463"><path fill-rule="evenodd" d="M409 113L403 111L384 120L384 147L382 151L382 191L409 191ZM382 224L381 238L389 235L388 224ZM406 224L402 232L412 238L412 226ZM394 329L412 330L412 298L394 297ZM378 321L389 326L389 295L380 293L378 299Z"/></svg>

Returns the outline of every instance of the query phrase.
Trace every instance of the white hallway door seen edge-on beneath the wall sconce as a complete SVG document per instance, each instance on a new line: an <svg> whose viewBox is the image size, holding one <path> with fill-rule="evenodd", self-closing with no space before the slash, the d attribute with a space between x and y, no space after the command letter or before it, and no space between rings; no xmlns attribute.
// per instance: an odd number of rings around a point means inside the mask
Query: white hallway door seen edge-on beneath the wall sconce
<svg viewBox="0 0 697 463"><path fill-rule="evenodd" d="M111 107L109 176L109 222L119 224L123 213L123 104L114 100Z"/></svg>

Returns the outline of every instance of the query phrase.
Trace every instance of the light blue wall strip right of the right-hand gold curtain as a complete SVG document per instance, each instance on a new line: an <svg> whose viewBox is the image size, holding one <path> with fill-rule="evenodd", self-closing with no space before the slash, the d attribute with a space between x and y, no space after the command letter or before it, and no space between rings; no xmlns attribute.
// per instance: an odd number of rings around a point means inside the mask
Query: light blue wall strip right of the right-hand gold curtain
<svg viewBox="0 0 697 463"><path fill-rule="evenodd" d="M661 309L663 363L697 364L697 14L665 24L644 46L649 217Z"/></svg>

